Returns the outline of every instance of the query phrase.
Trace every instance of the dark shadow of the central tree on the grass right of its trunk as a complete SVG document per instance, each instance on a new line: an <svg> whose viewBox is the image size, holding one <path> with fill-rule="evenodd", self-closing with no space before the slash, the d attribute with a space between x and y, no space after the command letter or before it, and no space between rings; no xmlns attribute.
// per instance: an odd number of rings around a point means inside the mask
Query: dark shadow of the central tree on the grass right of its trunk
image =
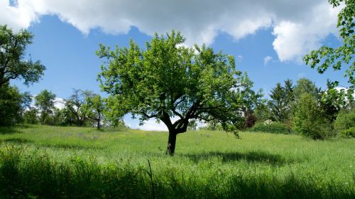
<svg viewBox="0 0 355 199"><path fill-rule="evenodd" d="M249 163L264 163L271 166L282 166L287 163L300 162L298 159L286 158L279 154L270 154L265 151L239 152L209 152L202 154L185 154L191 161L198 163L209 158L221 158L222 162L247 161Z"/></svg>

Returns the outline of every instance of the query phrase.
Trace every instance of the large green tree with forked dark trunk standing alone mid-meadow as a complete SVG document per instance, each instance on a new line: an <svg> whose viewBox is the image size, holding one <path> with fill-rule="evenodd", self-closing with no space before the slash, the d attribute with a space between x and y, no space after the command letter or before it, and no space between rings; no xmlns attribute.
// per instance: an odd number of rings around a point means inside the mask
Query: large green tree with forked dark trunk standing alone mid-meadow
<svg viewBox="0 0 355 199"><path fill-rule="evenodd" d="M204 45L187 48L180 32L155 36L146 49L134 41L129 48L100 45L105 58L98 79L109 94L107 106L122 116L131 112L144 121L155 118L169 130L167 153L175 152L176 136L192 120L217 121L226 131L244 122L241 117L245 75L235 69L234 57L214 53ZM178 118L172 122L172 118Z"/></svg>

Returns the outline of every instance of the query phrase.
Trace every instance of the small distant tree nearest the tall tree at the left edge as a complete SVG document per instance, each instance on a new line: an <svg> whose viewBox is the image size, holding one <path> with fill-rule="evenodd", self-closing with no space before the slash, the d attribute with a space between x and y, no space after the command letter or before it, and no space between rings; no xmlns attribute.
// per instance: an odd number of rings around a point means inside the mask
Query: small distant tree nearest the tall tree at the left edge
<svg viewBox="0 0 355 199"><path fill-rule="evenodd" d="M35 106L40 112L40 124L45 124L46 117L53 113L54 103L55 94L48 90L43 90L35 96Z"/></svg>

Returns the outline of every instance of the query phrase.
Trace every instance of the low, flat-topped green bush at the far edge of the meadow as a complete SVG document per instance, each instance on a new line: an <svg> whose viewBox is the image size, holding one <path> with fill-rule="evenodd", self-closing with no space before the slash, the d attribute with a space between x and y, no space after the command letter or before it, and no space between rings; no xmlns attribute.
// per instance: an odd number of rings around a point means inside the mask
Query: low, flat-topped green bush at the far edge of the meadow
<svg viewBox="0 0 355 199"><path fill-rule="evenodd" d="M257 123L250 129L250 131L261 131L272 134L290 134L290 127L281 122L272 122L269 124Z"/></svg>

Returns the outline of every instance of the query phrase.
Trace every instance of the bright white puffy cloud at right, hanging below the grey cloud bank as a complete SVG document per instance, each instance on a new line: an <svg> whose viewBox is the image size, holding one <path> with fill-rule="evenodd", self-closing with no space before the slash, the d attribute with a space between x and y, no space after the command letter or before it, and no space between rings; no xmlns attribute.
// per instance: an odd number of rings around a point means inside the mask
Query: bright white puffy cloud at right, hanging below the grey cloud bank
<svg viewBox="0 0 355 199"><path fill-rule="evenodd" d="M338 10L338 9L337 9ZM273 48L280 61L300 61L305 53L319 48L329 33L336 34L337 10L315 6L302 21L281 21L273 28Z"/></svg>

